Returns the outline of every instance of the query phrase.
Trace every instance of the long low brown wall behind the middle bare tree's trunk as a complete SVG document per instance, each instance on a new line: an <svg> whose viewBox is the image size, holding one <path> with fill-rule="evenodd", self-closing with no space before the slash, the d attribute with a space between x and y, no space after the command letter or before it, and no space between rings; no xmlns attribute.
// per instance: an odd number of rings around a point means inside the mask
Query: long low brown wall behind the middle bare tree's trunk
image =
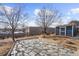
<svg viewBox="0 0 79 59"><path fill-rule="evenodd" d="M29 35L39 35L41 34L43 29L41 27L29 27ZM48 28L47 33L55 33L54 28Z"/></svg>

